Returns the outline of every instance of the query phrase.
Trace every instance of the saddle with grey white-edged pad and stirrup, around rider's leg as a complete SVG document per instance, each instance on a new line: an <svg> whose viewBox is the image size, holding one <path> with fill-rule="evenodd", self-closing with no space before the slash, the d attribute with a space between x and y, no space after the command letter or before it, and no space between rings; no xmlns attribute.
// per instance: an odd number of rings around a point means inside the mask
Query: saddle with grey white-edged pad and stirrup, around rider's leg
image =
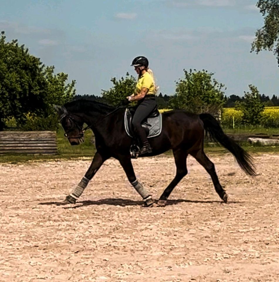
<svg viewBox="0 0 279 282"><path fill-rule="evenodd" d="M132 125L132 119L135 111L135 108L127 108L124 115L124 127L126 133L128 134L128 136L133 138L132 145L130 148L132 158L137 158L139 151L139 140ZM158 107L156 107L148 115L148 117L143 120L141 126L144 128L147 138L156 137L160 135L162 131L162 115L158 111Z"/></svg>

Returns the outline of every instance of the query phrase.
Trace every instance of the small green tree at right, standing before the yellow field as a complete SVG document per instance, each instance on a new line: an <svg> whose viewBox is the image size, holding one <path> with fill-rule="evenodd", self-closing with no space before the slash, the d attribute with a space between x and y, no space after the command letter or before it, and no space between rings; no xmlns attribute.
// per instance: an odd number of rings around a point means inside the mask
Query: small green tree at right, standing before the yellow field
<svg viewBox="0 0 279 282"><path fill-rule="evenodd" d="M244 91L244 100L236 101L236 110L243 113L244 124L260 125L264 104L261 102L260 94L256 86L249 84L250 92Z"/></svg>

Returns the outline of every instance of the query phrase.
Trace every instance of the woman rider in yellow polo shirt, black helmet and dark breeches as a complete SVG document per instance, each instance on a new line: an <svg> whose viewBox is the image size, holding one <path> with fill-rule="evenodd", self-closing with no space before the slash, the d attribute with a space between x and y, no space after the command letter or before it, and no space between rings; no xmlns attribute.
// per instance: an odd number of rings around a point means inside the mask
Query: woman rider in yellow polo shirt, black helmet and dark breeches
<svg viewBox="0 0 279 282"><path fill-rule="evenodd" d="M142 147L139 155L151 153L152 149L147 141L146 132L141 126L141 122L155 109L157 103L155 101L156 88L153 78L153 72L148 68L148 59L138 56L133 59L131 64L138 74L138 82L136 84L135 93L128 96L129 101L138 101L136 112L133 116L132 125L134 126L138 137L140 138Z"/></svg>

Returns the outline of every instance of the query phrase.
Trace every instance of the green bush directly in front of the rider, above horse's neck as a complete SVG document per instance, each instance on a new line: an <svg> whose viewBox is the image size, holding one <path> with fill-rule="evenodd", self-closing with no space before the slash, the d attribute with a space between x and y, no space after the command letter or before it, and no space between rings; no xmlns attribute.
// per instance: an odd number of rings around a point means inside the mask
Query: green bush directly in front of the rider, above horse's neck
<svg viewBox="0 0 279 282"><path fill-rule="evenodd" d="M109 90L102 90L102 95L113 106L118 105L127 96L135 92L137 80L133 75L129 75L129 73L126 73L125 78L122 76L120 80L116 80L114 77L110 81L113 83L113 87Z"/></svg>

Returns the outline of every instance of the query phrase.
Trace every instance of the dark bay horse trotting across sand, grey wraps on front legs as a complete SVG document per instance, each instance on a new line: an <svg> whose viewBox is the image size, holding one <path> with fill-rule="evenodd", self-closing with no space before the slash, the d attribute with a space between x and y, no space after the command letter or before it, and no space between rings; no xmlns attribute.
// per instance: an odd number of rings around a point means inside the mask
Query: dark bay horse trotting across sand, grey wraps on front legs
<svg viewBox="0 0 279 282"><path fill-rule="evenodd" d="M90 127L94 132L97 149L89 169L64 202L75 203L104 161L114 157L119 160L129 182L143 198L143 205L152 206L153 199L136 179L131 163L132 138L126 134L124 128L126 108L113 108L91 100L75 100L55 108L60 116L65 136L71 145L78 145L84 141L82 127L85 123L86 128ZM244 172L252 176L256 175L252 157L223 132L219 122L212 115L172 110L162 114L162 127L159 136L149 138L152 153L146 156L155 156L173 150L176 175L160 196L158 204L166 204L174 187L187 174L186 158L189 154L209 173L217 194L225 203L227 202L227 194L219 183L214 164L204 153L204 131L234 155Z"/></svg>

